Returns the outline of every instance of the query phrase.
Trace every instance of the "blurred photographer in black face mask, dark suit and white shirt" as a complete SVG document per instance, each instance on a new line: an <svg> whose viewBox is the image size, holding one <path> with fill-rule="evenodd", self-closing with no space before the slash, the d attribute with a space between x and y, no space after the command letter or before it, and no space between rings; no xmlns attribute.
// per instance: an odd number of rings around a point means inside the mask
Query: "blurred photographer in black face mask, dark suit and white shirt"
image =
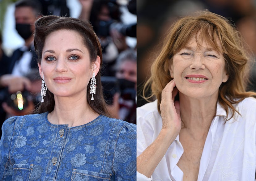
<svg viewBox="0 0 256 181"><path fill-rule="evenodd" d="M0 103L1 103L1 126L7 117L13 115L24 115L33 111L34 104L28 100L27 107L22 110L15 110L12 105L7 104L10 96L17 91L30 92L32 82L27 77L31 70L37 67L37 56L34 50L35 30L34 22L40 18L41 4L36 0L21 0L15 4L16 30L24 39L24 46L16 49L5 65L5 72L0 77ZM2 69L2 67L1 67ZM36 74L35 77L39 75ZM40 88L40 87L39 87ZM40 90L39 90L40 92ZM25 98L25 97L24 97Z"/></svg>

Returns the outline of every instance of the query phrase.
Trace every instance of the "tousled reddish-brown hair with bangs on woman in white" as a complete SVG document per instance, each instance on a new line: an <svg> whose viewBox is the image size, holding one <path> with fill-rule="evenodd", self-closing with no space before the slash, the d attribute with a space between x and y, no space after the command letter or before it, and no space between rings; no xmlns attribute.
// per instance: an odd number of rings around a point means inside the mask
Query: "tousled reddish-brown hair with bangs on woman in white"
<svg viewBox="0 0 256 181"><path fill-rule="evenodd" d="M162 90L173 79L168 69L173 63L173 56L184 48L192 37L197 38L199 34L201 40L205 40L221 52L225 59L225 69L229 78L220 85L218 101L227 115L230 110L232 116L225 118L229 120L234 117L235 112L239 113L233 104L241 102L246 97L255 96L256 93L246 92L249 58L246 56L239 32L227 19L207 10L198 11L194 16L183 17L170 27L161 52L151 66L151 77L144 85L143 95L151 86L150 97L156 96L160 112ZM197 40L198 44L199 42L200 40Z"/></svg>

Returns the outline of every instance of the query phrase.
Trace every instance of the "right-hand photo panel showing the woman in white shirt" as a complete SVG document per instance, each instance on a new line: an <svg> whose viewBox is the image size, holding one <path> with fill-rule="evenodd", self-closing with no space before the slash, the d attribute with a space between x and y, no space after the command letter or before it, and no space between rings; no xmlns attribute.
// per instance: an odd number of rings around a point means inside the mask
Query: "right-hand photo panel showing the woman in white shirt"
<svg viewBox="0 0 256 181"><path fill-rule="evenodd" d="M137 180L256 179L256 4L137 2Z"/></svg>

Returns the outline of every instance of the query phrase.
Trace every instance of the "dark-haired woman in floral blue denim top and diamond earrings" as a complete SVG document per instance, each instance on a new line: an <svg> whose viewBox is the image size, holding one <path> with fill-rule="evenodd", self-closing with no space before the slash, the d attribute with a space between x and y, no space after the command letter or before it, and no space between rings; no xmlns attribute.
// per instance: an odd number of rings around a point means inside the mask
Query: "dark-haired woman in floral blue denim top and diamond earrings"
<svg viewBox="0 0 256 181"><path fill-rule="evenodd" d="M50 15L35 27L42 103L38 114L3 124L0 178L136 179L136 125L107 117L91 24Z"/></svg>

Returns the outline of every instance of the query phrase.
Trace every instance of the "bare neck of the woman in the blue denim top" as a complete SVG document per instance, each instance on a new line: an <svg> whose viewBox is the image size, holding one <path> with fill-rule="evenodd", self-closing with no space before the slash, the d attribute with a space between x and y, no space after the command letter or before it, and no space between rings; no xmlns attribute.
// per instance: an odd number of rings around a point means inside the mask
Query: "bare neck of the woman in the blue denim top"
<svg viewBox="0 0 256 181"><path fill-rule="evenodd" d="M86 94L76 98L54 95L54 100L54 110L48 115L52 124L68 124L69 127L74 127L89 123L99 116L87 103Z"/></svg>

